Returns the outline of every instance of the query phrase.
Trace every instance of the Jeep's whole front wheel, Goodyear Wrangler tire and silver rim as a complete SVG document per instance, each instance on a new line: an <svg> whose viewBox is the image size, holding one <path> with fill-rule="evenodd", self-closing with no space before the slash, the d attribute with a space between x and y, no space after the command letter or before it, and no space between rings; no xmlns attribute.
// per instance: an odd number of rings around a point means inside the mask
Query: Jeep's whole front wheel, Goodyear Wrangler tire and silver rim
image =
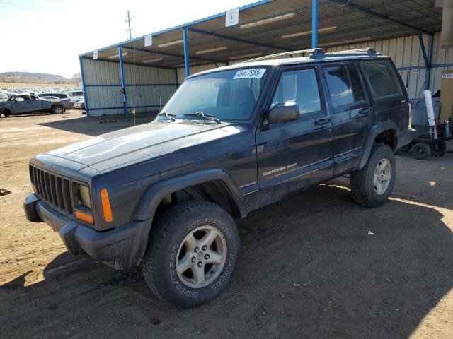
<svg viewBox="0 0 453 339"><path fill-rule="evenodd" d="M226 210L205 201L179 203L152 227L144 280L160 299L195 307L225 288L238 250L239 233Z"/></svg>

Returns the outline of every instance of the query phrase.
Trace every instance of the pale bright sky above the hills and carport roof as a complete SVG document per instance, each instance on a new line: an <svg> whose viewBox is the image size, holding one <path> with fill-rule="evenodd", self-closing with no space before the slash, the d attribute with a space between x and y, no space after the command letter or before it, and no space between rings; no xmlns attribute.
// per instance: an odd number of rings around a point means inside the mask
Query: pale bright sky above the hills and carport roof
<svg viewBox="0 0 453 339"><path fill-rule="evenodd" d="M79 54L127 40L127 10L139 37L255 1L0 0L0 73L71 78Z"/></svg>

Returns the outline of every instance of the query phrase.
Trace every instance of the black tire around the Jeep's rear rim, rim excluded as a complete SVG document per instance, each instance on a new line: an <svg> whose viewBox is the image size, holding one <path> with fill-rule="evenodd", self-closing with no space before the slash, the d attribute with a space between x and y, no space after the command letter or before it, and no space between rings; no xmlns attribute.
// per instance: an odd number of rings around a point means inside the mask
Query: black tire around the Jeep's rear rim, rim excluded
<svg viewBox="0 0 453 339"><path fill-rule="evenodd" d="M374 170L382 160L390 165L390 180L382 194L377 193L374 186ZM389 198L394 189L396 179L396 161L393 150L387 145L375 145L369 155L367 164L359 171L351 173L350 186L352 198L356 203L366 207L381 206Z"/></svg>

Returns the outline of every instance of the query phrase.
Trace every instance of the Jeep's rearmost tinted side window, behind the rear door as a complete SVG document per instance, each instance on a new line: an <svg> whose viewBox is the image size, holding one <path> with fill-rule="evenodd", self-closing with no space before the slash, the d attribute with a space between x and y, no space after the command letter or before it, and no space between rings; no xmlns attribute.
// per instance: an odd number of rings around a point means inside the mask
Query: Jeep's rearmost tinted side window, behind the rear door
<svg viewBox="0 0 453 339"><path fill-rule="evenodd" d="M369 85L369 89L375 99L388 95L401 95L398 81L393 70L386 62L362 64L363 73Z"/></svg>

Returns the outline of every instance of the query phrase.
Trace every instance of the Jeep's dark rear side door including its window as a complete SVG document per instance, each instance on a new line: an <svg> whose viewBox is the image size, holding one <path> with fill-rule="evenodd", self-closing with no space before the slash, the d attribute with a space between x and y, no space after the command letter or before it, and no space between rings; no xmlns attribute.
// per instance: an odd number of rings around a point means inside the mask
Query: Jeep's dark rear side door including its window
<svg viewBox="0 0 453 339"><path fill-rule="evenodd" d="M375 114L354 62L325 64L323 77L331 104L335 174L340 174L360 162Z"/></svg>

